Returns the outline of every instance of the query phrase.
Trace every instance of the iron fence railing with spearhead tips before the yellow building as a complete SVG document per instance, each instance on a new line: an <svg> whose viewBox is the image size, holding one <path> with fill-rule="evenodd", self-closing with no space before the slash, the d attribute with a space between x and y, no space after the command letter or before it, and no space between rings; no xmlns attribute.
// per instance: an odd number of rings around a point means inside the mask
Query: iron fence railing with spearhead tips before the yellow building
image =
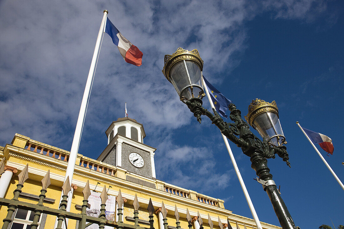
<svg viewBox="0 0 344 229"><path fill-rule="evenodd" d="M2 159L1 161L1 166L2 167L4 165L4 160ZM3 173L3 170L0 170L0 175ZM32 223L30 224L31 229L37 229L40 224L39 224L39 219L41 217L42 214L47 214L47 215L53 215L57 217L57 227L56 229L62 229L62 225L65 222L65 219L74 219L77 220L77 225L78 225L78 229L85 229L86 227L96 223L99 226L99 229L104 229L105 226L111 226L117 229L148 229L148 228L144 228L141 227L139 223L143 223L145 225L147 225L147 220L139 220L139 202L138 202L138 198L137 195L135 194L135 198L133 200L133 222L134 225L130 225L127 223L123 223L123 213L122 213L122 205L123 205L123 198L122 198L122 194L121 194L121 190L118 191L118 196L116 198L116 202L117 202L117 215L118 215L118 221L113 221L111 219L107 219L106 218L106 200L108 199L108 195L107 195L107 190L106 187L104 186L103 188L103 192L100 194L100 199L101 199L101 204L100 204L100 213L99 213L99 217L93 217L93 216L88 216L87 215L87 211L86 208L88 207L88 197L91 195L91 191L89 188L89 181L87 181L85 188L83 190L83 196L84 196L84 200L82 203L82 210L81 213L72 213L72 212L68 212L66 210L67 207L67 202L68 202L68 196L67 194L71 191L71 185L69 184L69 178L67 177L65 183L62 186L62 200L59 204L59 209L54 209L54 208L50 208L50 207L45 207L43 205L44 203L44 199L46 198L45 194L47 193L47 188L50 186L51 182L50 182L50 171L48 170L48 172L46 173L45 177L42 179L42 189L41 189L41 193L39 195L39 200L37 204L32 204L32 203L26 203L24 201L19 201L19 195L22 192L21 189L24 187L24 183L25 181L29 179L29 164L26 164L26 166L24 167L24 169L22 170L21 173L18 174L18 184L17 184L17 188L14 190L13 192L13 198L12 199L6 199L6 198L0 198L0 205L2 206L7 206L8 210L7 210L7 216L6 218L4 218L3 221L3 225L2 225L2 229L7 229L8 226L10 225L10 223L13 221L12 216L14 214L14 212L17 209L25 209L25 210L30 210L34 212L34 217L32 220ZM152 200L149 199L149 204L148 204L148 208L147 208L148 212L149 212L149 229L154 229L154 220L153 220L153 214L155 213L155 209L154 206L152 204ZM164 225L164 229L168 229L168 222L167 222L167 211L166 208L164 206L164 203L162 202L161 204L161 213L163 215L163 225ZM176 228L180 229L180 222L179 222L179 213L178 213L178 209L177 207L175 207L175 212L174 215L176 217ZM131 218L131 217L130 217ZM186 208L186 219L187 222L189 223L189 229L192 229L192 218L189 214L189 210ZM218 223L219 223L219 227L220 229L223 229L223 224L220 220L220 218L218 217ZM200 224L200 229L203 229L203 220L200 216L200 213L198 212L198 218L197 218L198 223ZM210 216L208 214L208 222L209 222L209 226L210 229L213 229L213 222L210 219Z"/></svg>

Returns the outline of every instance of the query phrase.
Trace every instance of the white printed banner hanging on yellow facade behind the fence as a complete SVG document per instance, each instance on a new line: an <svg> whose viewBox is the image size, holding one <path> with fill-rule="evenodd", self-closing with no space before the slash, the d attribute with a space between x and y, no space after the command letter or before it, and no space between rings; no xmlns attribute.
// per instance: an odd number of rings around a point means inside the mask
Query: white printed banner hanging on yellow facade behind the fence
<svg viewBox="0 0 344 229"><path fill-rule="evenodd" d="M91 191L91 195L88 197L88 203L90 204L90 208L86 208L86 214L88 216L99 217L100 214L100 193L96 193ZM105 217L107 220L115 221L116 218L116 196L108 195L108 199L106 200L106 211ZM95 223L87 227L89 229L98 229L99 226ZM111 229L112 227L105 226L105 229Z"/></svg>

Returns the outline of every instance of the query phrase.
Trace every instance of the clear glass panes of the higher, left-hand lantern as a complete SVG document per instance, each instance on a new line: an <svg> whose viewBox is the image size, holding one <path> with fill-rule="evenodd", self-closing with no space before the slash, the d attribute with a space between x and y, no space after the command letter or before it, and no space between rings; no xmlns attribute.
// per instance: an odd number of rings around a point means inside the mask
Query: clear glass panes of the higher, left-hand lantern
<svg viewBox="0 0 344 229"><path fill-rule="evenodd" d="M203 93L201 76L201 68L195 62L183 59L171 68L169 79L181 100L186 100Z"/></svg>

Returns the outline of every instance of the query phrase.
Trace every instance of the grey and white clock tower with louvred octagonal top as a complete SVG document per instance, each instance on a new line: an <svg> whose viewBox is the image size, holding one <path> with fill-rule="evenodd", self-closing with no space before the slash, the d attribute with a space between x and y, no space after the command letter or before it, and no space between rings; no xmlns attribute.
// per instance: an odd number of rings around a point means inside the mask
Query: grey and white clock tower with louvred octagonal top
<svg viewBox="0 0 344 229"><path fill-rule="evenodd" d="M143 144L143 125L135 119L119 118L105 131L108 145L98 161L123 168L129 174L155 179L155 148Z"/></svg>

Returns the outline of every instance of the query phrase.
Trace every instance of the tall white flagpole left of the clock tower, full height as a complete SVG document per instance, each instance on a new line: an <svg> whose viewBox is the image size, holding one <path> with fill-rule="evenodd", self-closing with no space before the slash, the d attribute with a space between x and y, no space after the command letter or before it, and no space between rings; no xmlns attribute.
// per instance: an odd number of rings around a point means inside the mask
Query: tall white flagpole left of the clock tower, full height
<svg viewBox="0 0 344 229"><path fill-rule="evenodd" d="M85 115L86 115L87 101L88 101L90 89L92 86L94 71L95 71L96 62L97 62L98 51L99 51L99 47L100 47L101 37L103 36L104 29L105 29L105 22L106 22L107 14L108 14L108 11L104 10L103 20L101 21L101 24L100 24L100 29L98 32L96 46L94 48L91 66L89 68L89 72L88 72L88 76L87 76L86 86L85 86L85 90L84 90L84 96L83 96L83 99L81 101L79 116L78 116L78 120L76 122L74 138L73 138L72 147L71 147L71 153L69 154L69 158L68 158L68 164L67 164L67 169L66 169L64 181L66 181L67 177L69 176L69 183L71 185L72 185L72 180L73 180L76 157L77 157L78 150L79 150L81 132L82 132L83 123L84 123L84 119L85 119ZM68 205L69 206L67 206L67 209L68 209L68 207L70 209L70 206L71 206L71 201L69 201L70 200L69 198L71 197L71 193L72 192L68 193ZM60 201L61 201L61 199L62 199L62 194L61 194ZM67 220L66 220L66 222L67 222ZM54 228L56 228L56 227L57 227L57 220L55 221Z"/></svg>

